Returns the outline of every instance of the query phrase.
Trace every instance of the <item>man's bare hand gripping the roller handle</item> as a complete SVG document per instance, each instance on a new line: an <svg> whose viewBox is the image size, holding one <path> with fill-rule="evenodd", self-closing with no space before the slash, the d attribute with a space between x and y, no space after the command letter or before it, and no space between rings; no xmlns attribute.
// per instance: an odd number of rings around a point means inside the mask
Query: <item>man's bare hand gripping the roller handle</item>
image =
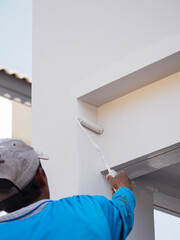
<svg viewBox="0 0 180 240"><path fill-rule="evenodd" d="M111 175L107 175L106 179L110 183L112 194L114 194L115 191L121 187L127 187L131 191L133 191L130 179L125 172L119 172L115 177L112 177Z"/></svg>

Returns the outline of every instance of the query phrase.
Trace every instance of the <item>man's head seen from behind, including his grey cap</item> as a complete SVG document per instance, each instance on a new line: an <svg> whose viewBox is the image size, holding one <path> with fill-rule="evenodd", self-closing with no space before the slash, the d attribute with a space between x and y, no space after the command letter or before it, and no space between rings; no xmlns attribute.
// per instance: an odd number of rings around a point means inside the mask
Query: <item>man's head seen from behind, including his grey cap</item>
<svg viewBox="0 0 180 240"><path fill-rule="evenodd" d="M49 188L37 152L17 139L0 139L0 210L8 212L49 198Z"/></svg>

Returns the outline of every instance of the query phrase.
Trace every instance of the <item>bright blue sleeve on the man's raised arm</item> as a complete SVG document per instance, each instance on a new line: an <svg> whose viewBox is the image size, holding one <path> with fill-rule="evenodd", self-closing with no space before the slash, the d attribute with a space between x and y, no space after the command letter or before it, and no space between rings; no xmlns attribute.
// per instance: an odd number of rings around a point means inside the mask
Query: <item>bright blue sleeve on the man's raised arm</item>
<svg viewBox="0 0 180 240"><path fill-rule="evenodd" d="M108 200L102 196L94 196L99 202L108 221L113 240L125 240L133 228L135 197L133 192L122 187Z"/></svg>

